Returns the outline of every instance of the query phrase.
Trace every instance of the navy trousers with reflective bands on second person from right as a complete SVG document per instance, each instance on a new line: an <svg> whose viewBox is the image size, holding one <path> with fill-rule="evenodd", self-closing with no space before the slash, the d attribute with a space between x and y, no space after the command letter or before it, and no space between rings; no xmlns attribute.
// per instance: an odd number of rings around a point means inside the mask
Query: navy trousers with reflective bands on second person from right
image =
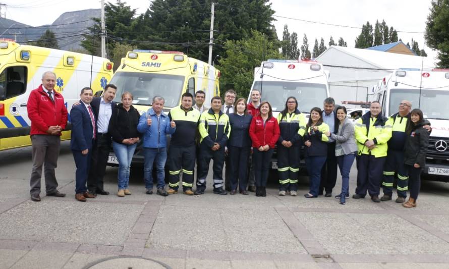
<svg viewBox="0 0 449 269"><path fill-rule="evenodd" d="M404 164L404 152L401 150L388 150L385 165L383 167L383 193L390 195L393 193L393 183L395 174L398 178L398 196L407 197L409 185L409 175Z"/></svg>

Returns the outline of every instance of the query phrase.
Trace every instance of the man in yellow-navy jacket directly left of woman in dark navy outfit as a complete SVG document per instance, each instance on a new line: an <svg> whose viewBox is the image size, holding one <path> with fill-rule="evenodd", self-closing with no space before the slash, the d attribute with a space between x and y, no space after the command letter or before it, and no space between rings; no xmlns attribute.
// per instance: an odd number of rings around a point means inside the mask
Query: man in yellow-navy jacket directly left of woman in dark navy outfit
<svg viewBox="0 0 449 269"><path fill-rule="evenodd" d="M223 189L223 164L225 163L225 146L231 133L229 117L221 112L221 98L214 96L210 100L211 108L200 117L198 130L201 136L200 163L197 171L195 195L203 194L206 189L206 177L210 159L213 159L213 193L226 195Z"/></svg>

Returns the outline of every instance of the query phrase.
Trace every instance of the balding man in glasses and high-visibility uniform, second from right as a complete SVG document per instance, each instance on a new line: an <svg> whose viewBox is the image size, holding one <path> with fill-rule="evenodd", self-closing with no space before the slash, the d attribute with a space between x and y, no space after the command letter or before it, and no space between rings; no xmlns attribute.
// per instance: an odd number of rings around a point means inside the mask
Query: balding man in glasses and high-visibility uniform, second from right
<svg viewBox="0 0 449 269"><path fill-rule="evenodd" d="M392 133L391 139L388 141L388 154L383 168L383 196L380 198L381 201L391 200L395 174L398 178L398 198L396 202L403 203L407 197L409 175L404 166L404 146L407 139L406 130L410 124L409 113L411 109L412 103L408 100L403 100L399 103L399 112L388 118L392 122Z"/></svg>

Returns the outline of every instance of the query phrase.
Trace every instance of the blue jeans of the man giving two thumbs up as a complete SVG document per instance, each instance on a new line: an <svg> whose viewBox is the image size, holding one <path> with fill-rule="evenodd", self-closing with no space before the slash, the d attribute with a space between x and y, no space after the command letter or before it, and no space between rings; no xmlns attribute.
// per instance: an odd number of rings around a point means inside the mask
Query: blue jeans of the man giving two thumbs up
<svg viewBox="0 0 449 269"><path fill-rule="evenodd" d="M165 161L167 160L166 147L145 147L145 166L143 168L143 179L145 180L145 189L153 188L153 163L156 163L157 188L165 187Z"/></svg>

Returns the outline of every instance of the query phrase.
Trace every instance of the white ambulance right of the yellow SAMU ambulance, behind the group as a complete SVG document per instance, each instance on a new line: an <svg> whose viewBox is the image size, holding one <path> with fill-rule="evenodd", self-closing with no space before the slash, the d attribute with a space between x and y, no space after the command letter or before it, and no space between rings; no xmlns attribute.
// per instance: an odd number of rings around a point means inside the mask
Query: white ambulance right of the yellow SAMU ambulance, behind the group
<svg viewBox="0 0 449 269"><path fill-rule="evenodd" d="M312 107L322 108L324 99L329 96L328 78L329 73L315 61L268 60L254 69L251 89L258 89L261 101L271 104L274 117L285 109L288 97L296 97L298 110L308 120ZM250 101L251 90L248 96L248 102ZM271 160L271 168L277 169L276 151Z"/></svg>

